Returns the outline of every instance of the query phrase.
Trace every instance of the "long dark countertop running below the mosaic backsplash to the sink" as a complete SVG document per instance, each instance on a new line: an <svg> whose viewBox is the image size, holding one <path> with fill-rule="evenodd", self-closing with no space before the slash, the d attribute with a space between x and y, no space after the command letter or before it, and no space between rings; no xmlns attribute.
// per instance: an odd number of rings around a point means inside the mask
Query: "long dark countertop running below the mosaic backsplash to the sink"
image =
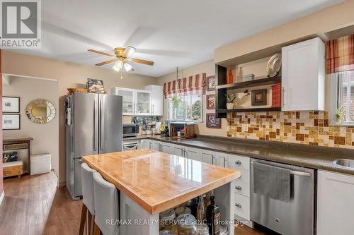
<svg viewBox="0 0 354 235"><path fill-rule="evenodd" d="M198 147L205 150L227 152L273 162L354 175L354 169L339 167L332 163L334 159L338 158L354 159L354 150L348 148L224 138L210 135L198 135L196 138L187 140L176 140L161 135L138 135L133 138L124 138L124 141L146 138L189 147Z"/></svg>

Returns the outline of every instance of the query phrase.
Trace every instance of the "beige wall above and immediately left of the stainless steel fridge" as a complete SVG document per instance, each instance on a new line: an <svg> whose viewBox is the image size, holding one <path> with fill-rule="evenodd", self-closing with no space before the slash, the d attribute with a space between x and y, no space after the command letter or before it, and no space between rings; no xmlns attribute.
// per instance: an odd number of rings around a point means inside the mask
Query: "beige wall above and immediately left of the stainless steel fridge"
<svg viewBox="0 0 354 235"><path fill-rule="evenodd" d="M67 88L84 87L87 78L103 80L108 92L110 88L115 86L144 89L145 85L157 84L156 78L134 73L125 73L121 80L120 74L112 69L73 64L8 51L3 51L2 54L2 71L19 76L57 80L59 94L59 183L61 185L65 182L64 96L67 95Z"/></svg>

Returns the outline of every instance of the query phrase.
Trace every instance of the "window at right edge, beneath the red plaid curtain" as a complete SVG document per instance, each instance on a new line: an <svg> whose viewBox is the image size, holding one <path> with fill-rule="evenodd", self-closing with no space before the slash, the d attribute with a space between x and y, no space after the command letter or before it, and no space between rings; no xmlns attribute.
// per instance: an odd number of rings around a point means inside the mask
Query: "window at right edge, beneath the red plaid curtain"
<svg viewBox="0 0 354 235"><path fill-rule="evenodd" d="M354 124L354 71L344 71L337 76L337 123Z"/></svg>

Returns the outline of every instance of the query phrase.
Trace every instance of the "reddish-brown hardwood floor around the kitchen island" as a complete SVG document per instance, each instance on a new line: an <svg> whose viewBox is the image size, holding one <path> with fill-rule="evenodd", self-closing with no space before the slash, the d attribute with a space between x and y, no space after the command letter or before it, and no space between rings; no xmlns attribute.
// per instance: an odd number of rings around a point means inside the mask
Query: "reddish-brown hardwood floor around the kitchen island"
<svg viewBox="0 0 354 235"><path fill-rule="evenodd" d="M79 234L81 200L73 201L67 188L57 188L53 172L4 180L5 198L0 205L0 234ZM247 226L237 235L262 235Z"/></svg>

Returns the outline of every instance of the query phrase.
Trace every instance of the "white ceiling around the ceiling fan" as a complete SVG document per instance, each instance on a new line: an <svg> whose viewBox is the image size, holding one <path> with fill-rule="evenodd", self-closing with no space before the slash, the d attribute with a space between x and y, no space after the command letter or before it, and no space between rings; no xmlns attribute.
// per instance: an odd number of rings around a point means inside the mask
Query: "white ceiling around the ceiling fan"
<svg viewBox="0 0 354 235"><path fill-rule="evenodd" d="M16 50L79 64L110 59L87 52L137 48L135 73L161 76L212 59L214 50L341 0L42 0L42 49ZM275 35L276 37L276 35ZM113 64L105 66L111 68Z"/></svg>

